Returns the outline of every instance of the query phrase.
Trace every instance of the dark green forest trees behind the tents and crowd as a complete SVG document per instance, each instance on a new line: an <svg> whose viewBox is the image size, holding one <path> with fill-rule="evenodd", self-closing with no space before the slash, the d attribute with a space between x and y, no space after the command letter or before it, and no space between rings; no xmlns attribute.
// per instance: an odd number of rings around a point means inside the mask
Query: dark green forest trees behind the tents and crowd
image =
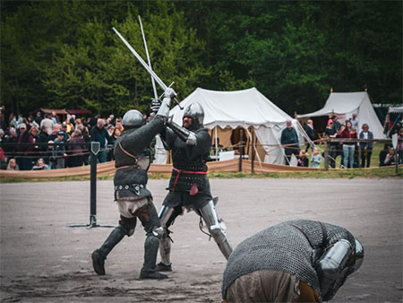
<svg viewBox="0 0 403 303"><path fill-rule="evenodd" d="M402 1L1 1L0 102L150 108L150 75L115 26L183 100L197 87L256 87L292 115L334 91L402 102ZM158 88L159 89L159 88ZM162 91L159 89L159 93Z"/></svg>

